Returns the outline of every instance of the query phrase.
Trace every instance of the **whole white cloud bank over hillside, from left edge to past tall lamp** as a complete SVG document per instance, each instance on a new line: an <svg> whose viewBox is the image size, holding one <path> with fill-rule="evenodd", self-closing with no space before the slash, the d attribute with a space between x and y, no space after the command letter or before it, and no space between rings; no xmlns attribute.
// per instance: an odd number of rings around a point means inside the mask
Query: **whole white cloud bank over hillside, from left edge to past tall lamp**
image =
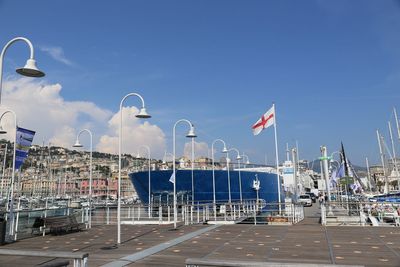
<svg viewBox="0 0 400 267"><path fill-rule="evenodd" d="M93 132L94 149L118 153L119 112L113 114L92 102L66 101L61 96L60 84L21 78L6 81L3 88L2 108L8 107L17 114L20 127L36 131L34 143L42 144L43 141L71 148L77 132L88 128ZM137 119L134 116L137 113L135 107L123 108L123 153L136 155L141 145L147 145L151 148L152 158L162 158L164 132L148 121ZM85 121L82 121L82 116ZM1 124L6 130L13 129L14 119L7 115ZM13 136L14 131L10 131L3 138L13 140ZM81 138L83 145L88 144L88 137L82 135ZM99 143L96 145L97 140Z"/></svg>

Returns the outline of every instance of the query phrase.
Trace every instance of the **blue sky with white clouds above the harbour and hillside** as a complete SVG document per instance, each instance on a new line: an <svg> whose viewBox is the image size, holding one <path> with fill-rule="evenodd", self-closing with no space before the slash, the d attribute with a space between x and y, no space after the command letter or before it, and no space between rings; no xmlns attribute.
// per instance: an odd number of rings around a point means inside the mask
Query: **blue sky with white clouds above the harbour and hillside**
<svg viewBox="0 0 400 267"><path fill-rule="evenodd" d="M94 150L117 153L119 105L134 92L152 118L135 118L138 98L124 102L124 153L148 145L161 159L184 118L196 127L196 155L221 138L274 164L273 128L253 136L251 126L275 103L280 161L286 143L314 160L342 141L365 166L380 162L377 129L390 148L387 122L400 112L400 1L0 0L0 25L0 47L27 37L46 73L19 76L29 50L7 49L1 104L36 144L71 147L87 128ZM190 155L187 131L176 127L177 156ZM88 149L88 135L80 140ZM399 154L397 135L395 146Z"/></svg>

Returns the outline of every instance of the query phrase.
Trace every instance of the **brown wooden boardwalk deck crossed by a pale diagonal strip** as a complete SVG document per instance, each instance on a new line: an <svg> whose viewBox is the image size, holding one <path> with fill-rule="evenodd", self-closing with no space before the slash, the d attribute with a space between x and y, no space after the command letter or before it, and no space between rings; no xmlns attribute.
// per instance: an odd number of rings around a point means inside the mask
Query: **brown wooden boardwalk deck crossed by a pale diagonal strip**
<svg viewBox="0 0 400 267"><path fill-rule="evenodd" d="M315 206L315 205L314 205ZM311 214L294 226L278 225L122 225L60 236L39 236L0 247L89 253L89 266L185 266L187 258L281 263L400 266L400 229L324 227ZM161 245L160 245L161 244ZM0 256L0 266L35 266L39 257Z"/></svg>

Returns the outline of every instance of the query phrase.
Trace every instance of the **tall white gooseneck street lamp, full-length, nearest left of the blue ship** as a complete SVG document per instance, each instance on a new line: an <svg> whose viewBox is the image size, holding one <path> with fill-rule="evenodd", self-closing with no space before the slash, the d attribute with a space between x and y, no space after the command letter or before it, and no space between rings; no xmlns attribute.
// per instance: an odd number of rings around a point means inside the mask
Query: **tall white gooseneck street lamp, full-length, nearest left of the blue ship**
<svg viewBox="0 0 400 267"><path fill-rule="evenodd" d="M121 244L121 148L122 148L122 105L125 101L130 96L136 96L140 99L142 102L142 108L140 109L139 113L136 116L136 118L139 119L147 119L150 118L151 116L147 113L145 105L144 105L144 100L143 97L137 93L129 93L126 96L124 96L121 100L121 103L119 105L119 140L118 140L118 192L117 192L117 197L118 197L118 206L117 206L117 244Z"/></svg>

